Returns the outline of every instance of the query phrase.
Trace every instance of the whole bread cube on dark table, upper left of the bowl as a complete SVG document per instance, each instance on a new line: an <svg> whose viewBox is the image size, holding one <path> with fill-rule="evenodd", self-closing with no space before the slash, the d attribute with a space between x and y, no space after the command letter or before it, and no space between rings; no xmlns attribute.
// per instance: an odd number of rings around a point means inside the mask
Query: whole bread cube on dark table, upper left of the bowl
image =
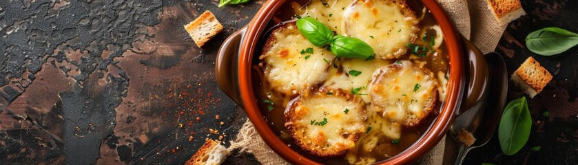
<svg viewBox="0 0 578 165"><path fill-rule="evenodd" d="M200 14L195 21L185 25L185 30L189 32L189 36L195 41L195 44L202 47L213 36L223 31L223 25L219 23L213 13L207 10Z"/></svg>

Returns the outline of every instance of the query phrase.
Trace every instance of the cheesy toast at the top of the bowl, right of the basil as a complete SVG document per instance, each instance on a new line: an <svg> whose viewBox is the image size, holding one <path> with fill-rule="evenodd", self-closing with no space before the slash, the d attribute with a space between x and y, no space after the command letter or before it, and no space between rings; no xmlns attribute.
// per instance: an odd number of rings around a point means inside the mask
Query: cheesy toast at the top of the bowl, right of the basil
<svg viewBox="0 0 578 165"><path fill-rule="evenodd" d="M343 12L344 35L365 41L382 59L400 58L417 37L419 21L405 1L394 2L357 1Z"/></svg>

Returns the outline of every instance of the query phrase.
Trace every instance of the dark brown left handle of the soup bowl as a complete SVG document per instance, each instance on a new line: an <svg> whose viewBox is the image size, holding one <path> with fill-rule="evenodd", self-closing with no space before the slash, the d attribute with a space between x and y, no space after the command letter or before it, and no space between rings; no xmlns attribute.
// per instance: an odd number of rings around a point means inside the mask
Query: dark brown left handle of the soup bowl
<svg viewBox="0 0 578 165"><path fill-rule="evenodd" d="M223 89L229 98L233 99L240 107L243 107L238 76L238 57L240 43L247 32L247 27L234 32L225 39L220 46L215 61L217 84Z"/></svg>

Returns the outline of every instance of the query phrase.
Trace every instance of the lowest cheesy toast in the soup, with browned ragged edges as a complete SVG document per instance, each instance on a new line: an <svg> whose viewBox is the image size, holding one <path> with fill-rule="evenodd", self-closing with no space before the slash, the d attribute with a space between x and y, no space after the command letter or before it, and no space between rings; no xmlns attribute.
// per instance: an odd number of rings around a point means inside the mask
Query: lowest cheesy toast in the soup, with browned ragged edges
<svg viewBox="0 0 578 165"><path fill-rule="evenodd" d="M335 90L332 92L336 93ZM304 135L293 138L307 148L331 150L327 151L330 153L345 151L355 146L357 137L353 136L366 130L364 103L359 98L351 97L327 94L327 91L313 96L299 96L290 105L295 120L285 125L304 129Z"/></svg>

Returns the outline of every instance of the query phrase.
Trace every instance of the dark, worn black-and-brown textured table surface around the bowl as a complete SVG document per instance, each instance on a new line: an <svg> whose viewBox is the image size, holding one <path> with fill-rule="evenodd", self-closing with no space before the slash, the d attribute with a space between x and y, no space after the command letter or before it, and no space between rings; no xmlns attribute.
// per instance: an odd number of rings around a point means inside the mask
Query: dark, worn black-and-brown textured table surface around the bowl
<svg viewBox="0 0 578 165"><path fill-rule="evenodd" d="M0 164L183 164L207 137L234 139L245 114L216 85L215 54L262 3L0 1ZM528 100L534 124L519 153L502 154L494 137L466 164L578 164L578 47L544 57L524 46L540 28L578 32L578 1L522 3L528 14L496 51L509 74L534 56L554 79ZM205 10L225 30L198 48L183 25ZM521 96L510 82L508 100Z"/></svg>

